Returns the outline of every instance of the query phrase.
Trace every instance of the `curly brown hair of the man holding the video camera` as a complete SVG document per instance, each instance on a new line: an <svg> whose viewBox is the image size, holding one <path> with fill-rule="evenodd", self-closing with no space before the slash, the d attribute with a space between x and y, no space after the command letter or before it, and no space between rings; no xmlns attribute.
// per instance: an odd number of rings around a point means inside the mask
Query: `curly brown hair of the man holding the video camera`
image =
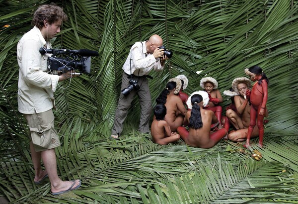
<svg viewBox="0 0 298 204"><path fill-rule="evenodd" d="M66 21L67 15L63 11L63 8L59 7L55 3L44 4L39 6L34 12L32 23L41 29L45 24L44 20L46 20L49 24L52 24L57 20Z"/></svg>

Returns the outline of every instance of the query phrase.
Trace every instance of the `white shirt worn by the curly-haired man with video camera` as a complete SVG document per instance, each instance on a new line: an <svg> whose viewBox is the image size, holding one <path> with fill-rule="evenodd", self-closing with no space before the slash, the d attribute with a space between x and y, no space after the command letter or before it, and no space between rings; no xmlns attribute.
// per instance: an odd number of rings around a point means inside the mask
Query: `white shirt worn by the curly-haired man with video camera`
<svg viewBox="0 0 298 204"><path fill-rule="evenodd" d="M17 44L19 65L18 110L32 114L47 111L55 106L54 92L59 81L58 75L48 71L49 54L41 55L39 49L51 44L45 41L38 27L34 26L23 35Z"/></svg>

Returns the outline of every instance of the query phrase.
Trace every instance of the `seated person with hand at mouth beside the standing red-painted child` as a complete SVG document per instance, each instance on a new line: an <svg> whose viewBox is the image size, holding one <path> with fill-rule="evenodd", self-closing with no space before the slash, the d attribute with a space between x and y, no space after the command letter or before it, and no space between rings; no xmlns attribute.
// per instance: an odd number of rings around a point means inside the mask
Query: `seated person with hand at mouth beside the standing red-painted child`
<svg viewBox="0 0 298 204"><path fill-rule="evenodd" d="M233 109L226 110L226 117L230 123L236 129L235 131L230 131L228 133L228 139L241 142L246 140L248 126L250 123L250 104L249 104L249 94L250 94L251 84L250 80L245 77L236 78L232 82L232 90L224 91L224 95L234 98L234 105L236 111ZM268 110L265 111L265 116L268 116ZM255 126L251 137L257 137L259 135L258 127Z"/></svg>

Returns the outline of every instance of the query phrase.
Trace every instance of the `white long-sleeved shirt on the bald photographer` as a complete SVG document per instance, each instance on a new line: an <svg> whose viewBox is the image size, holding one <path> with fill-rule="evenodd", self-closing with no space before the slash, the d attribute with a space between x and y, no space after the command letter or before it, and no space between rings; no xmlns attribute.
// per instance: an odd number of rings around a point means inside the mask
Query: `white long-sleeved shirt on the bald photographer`
<svg viewBox="0 0 298 204"><path fill-rule="evenodd" d="M136 76L148 75L152 69L159 71L164 67L161 66L159 58L155 59L152 54L147 54L146 41L136 42L132 46L130 53L122 67L124 72L128 75L131 73L130 63L132 65L132 74Z"/></svg>

